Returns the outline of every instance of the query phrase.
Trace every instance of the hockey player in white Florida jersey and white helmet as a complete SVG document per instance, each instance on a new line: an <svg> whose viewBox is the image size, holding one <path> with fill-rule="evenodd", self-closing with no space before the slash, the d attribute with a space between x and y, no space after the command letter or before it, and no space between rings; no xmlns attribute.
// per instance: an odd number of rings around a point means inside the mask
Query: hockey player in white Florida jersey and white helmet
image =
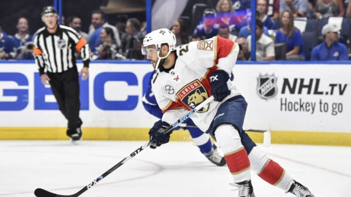
<svg viewBox="0 0 351 197"><path fill-rule="evenodd" d="M238 197L254 197L250 170L297 197L313 197L276 162L269 159L242 129L247 103L230 80L239 45L222 37L194 41L175 48L168 29L147 34L142 51L156 68L152 88L162 120L149 131L152 147L168 143L172 132L162 131L186 110L214 96L215 101L191 116L202 131L210 132L224 153L238 187Z"/></svg>

